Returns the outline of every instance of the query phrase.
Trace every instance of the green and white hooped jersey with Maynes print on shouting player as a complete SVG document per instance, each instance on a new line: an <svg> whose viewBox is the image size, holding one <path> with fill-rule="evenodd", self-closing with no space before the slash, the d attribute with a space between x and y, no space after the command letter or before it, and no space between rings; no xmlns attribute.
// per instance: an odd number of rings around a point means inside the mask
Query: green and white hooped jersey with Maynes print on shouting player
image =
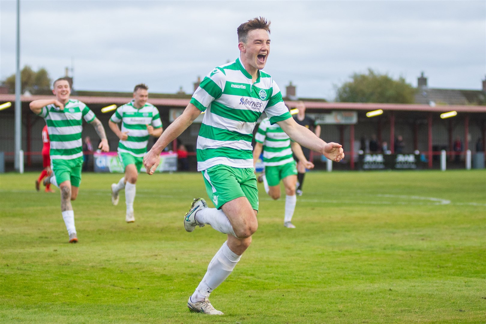
<svg viewBox="0 0 486 324"><path fill-rule="evenodd" d="M255 83L240 59L213 69L192 95L205 111L197 137L197 170L218 164L253 168L253 129L265 111L270 123L292 118L270 75L259 71Z"/></svg>

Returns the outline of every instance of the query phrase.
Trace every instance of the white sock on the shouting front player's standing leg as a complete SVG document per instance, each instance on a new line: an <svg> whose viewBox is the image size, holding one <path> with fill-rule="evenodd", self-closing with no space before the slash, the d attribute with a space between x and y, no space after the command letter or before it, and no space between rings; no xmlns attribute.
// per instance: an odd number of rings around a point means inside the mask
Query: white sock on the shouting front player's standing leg
<svg viewBox="0 0 486 324"><path fill-rule="evenodd" d="M201 302L205 297L208 297L213 290L226 280L238 261L240 261L240 258L241 256L231 251L226 242L224 242L221 249L209 262L208 271L192 294L191 301L193 303Z"/></svg>

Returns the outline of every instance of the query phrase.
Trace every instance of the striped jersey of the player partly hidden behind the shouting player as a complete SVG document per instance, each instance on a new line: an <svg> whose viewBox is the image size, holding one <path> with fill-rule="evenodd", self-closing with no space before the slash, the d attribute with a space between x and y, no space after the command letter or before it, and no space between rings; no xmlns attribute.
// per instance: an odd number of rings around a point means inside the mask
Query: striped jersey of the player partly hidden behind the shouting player
<svg viewBox="0 0 486 324"><path fill-rule="evenodd" d="M275 167L294 161L290 137L278 126L263 119L258 127L255 141L263 144L263 165Z"/></svg>

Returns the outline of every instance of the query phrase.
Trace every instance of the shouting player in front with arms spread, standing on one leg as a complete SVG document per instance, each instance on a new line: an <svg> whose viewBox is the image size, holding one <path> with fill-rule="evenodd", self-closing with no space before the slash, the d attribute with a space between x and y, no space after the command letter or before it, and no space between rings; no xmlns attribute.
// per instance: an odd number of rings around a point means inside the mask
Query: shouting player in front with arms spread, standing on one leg
<svg viewBox="0 0 486 324"><path fill-rule="evenodd" d="M209 294L233 271L258 227L258 188L251 142L263 111L270 123L277 122L297 143L334 161L344 157L341 145L326 143L295 122L277 84L261 71L270 52L270 22L263 17L254 18L241 24L237 33L240 57L209 72L182 115L143 158L147 173L153 174L160 163L160 152L201 111L205 112L197 138L197 169L203 174L206 192L216 208L208 208L202 198L194 199L184 217L184 227L192 232L196 226L211 225L227 235L187 304L191 311L211 315L223 312L211 305ZM199 248L204 246L201 243Z"/></svg>

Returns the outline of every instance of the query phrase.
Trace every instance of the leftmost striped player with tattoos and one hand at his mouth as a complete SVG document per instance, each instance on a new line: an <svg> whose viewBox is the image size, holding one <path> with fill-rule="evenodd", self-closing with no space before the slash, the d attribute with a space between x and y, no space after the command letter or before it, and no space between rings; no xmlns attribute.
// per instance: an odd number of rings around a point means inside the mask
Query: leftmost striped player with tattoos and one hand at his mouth
<svg viewBox="0 0 486 324"><path fill-rule="evenodd" d="M71 85L66 78L54 81L52 93L55 99L39 99L30 103L31 110L43 117L47 123L49 138L51 139L51 169L52 176L44 181L44 185L52 183L61 189L61 211L69 242L78 241L74 226L74 212L71 200L78 196L81 184L81 169L83 167L83 119L93 125L101 138L98 148L103 152L109 151L108 141L101 121L79 100L69 99Z"/></svg>

